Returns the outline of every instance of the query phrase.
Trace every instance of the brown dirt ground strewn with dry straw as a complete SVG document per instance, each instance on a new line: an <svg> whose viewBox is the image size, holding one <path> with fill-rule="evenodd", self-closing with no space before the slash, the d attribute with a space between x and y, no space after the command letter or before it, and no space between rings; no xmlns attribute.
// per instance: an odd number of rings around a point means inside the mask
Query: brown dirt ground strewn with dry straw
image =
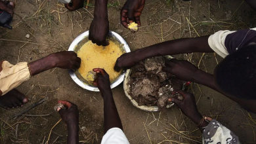
<svg viewBox="0 0 256 144"><path fill-rule="evenodd" d="M0 28L0 59L15 64L32 62L53 52L67 50L72 41L89 30L93 20L91 1L88 10L69 12L56 0L15 0L13 29ZM108 1L110 30L118 31L131 50L184 37L211 35L221 29L255 27L255 11L243 0L147 0L141 16L142 26L135 34L119 22L125 0ZM30 38L26 38L29 34ZM175 56L189 60L200 69L213 73L220 56L200 53ZM200 61L200 59L202 60ZM103 101L99 92L83 90L70 78L66 69L51 69L35 75L17 88L30 99L25 107L42 98L49 100L27 115L14 120L20 109L0 109L0 143L66 143L67 130L53 111L58 99L66 99L79 108L79 141L100 143L104 135ZM202 143L202 134L176 107L150 113L134 107L120 84L113 90L125 135L130 143ZM192 84L198 109L230 128L242 143L256 143L256 115L249 115L237 103L202 86ZM40 116L47 115L48 116ZM36 115L31 117L29 115ZM251 117L251 118L250 118ZM56 126L53 128L53 126ZM49 134L51 137L49 138Z"/></svg>

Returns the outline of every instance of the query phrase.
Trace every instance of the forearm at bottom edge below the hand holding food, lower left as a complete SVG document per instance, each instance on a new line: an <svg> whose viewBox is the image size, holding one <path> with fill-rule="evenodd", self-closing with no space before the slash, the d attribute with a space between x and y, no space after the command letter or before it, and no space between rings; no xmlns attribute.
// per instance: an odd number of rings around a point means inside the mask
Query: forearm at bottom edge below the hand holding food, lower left
<svg viewBox="0 0 256 144"><path fill-rule="evenodd" d="M68 122L68 144L77 144L79 141L78 122Z"/></svg>

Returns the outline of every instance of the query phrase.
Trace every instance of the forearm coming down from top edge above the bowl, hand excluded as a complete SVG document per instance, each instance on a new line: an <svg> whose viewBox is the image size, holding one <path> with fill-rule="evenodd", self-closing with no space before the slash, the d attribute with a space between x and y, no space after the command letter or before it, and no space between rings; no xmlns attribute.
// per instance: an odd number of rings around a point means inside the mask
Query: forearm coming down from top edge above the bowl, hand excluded
<svg viewBox="0 0 256 144"><path fill-rule="evenodd" d="M94 16L96 18L106 18L108 17L108 0L96 0L95 1L95 12Z"/></svg>

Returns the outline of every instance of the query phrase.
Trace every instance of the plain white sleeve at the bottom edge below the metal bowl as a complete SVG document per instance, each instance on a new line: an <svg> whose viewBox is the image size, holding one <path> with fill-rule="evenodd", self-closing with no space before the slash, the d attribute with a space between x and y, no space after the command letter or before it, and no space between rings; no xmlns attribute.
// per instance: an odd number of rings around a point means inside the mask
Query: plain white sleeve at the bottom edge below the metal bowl
<svg viewBox="0 0 256 144"><path fill-rule="evenodd" d="M129 141L120 128L111 128L102 137L101 144L129 144Z"/></svg>

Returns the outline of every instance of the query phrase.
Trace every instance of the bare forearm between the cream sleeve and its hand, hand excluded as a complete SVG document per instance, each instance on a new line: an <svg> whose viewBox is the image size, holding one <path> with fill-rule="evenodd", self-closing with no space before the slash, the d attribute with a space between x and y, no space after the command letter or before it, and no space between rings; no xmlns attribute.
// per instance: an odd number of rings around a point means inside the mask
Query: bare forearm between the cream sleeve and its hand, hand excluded
<svg viewBox="0 0 256 144"><path fill-rule="evenodd" d="M41 58L39 60L31 62L29 63L29 65L30 65L30 72L32 75L37 75L38 73L47 71L55 67L52 54L45 58Z"/></svg>

